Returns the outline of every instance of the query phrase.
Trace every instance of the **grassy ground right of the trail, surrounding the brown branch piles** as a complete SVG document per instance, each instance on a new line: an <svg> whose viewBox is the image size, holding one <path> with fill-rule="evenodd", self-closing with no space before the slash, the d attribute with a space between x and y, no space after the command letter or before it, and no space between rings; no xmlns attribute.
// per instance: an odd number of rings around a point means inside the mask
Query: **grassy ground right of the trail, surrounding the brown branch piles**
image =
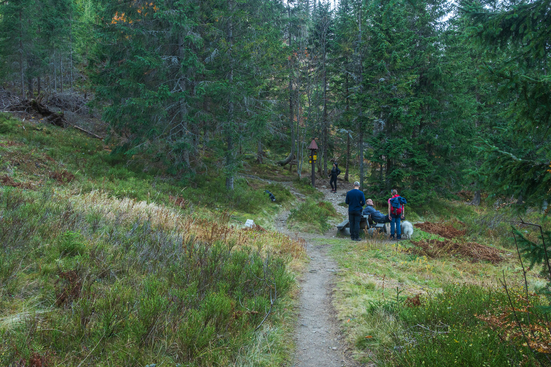
<svg viewBox="0 0 551 367"><path fill-rule="evenodd" d="M515 360L515 349L499 343L496 333L474 316L487 311L499 313L500 307L508 306L498 287L502 270L512 294L522 293L520 262L507 235L510 224L497 221L511 216L512 210L495 212L449 201L409 213L410 219L421 221L463 221L467 233L460 240L504 250L505 260L495 265L461 256L431 259L410 254L410 241L396 247L376 238L360 244L320 239L334 243L331 253L343 269L334 305L358 357L379 365L399 366L502 366ZM536 212L526 216L541 222ZM412 240L438 237L415 229ZM538 271L528 272L531 289L544 284ZM416 294L421 295L422 306L404 307L405 298ZM397 297L401 307L397 307ZM541 297L532 300L540 301L545 304ZM436 333L439 330L445 332ZM527 350L521 350L521 354L530 355ZM526 363L533 365L530 360Z"/></svg>

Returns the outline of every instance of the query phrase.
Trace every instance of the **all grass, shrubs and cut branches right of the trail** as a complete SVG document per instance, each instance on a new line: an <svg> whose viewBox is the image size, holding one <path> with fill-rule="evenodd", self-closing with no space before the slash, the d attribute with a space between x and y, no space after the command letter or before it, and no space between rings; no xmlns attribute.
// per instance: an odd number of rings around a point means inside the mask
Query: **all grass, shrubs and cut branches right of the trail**
<svg viewBox="0 0 551 367"><path fill-rule="evenodd" d="M412 240L388 243L381 234L357 244L318 240L334 243L331 253L343 270L334 305L360 360L383 366L549 365L548 283L541 267L522 266L511 226L523 245L520 254L538 248L543 261L541 243L534 244L539 229L507 222L518 221L511 206L444 201L440 210L410 209L412 217L424 222ZM551 223L541 213L528 210L522 218L542 223L548 233Z"/></svg>

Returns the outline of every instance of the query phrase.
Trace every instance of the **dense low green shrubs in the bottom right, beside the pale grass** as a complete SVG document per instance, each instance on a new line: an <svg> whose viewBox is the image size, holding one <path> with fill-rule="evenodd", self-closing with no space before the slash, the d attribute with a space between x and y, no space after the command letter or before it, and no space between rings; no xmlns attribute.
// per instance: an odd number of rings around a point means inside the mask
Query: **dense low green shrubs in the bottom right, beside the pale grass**
<svg viewBox="0 0 551 367"><path fill-rule="evenodd" d="M522 354L530 356L530 351L501 342L477 317L488 311L499 314L507 302L500 289L446 286L441 294L422 299L420 306L401 306L398 318L404 323L403 330L393 335L390 349L379 350L379 358L388 366L518 365ZM537 365L531 357L525 363Z"/></svg>

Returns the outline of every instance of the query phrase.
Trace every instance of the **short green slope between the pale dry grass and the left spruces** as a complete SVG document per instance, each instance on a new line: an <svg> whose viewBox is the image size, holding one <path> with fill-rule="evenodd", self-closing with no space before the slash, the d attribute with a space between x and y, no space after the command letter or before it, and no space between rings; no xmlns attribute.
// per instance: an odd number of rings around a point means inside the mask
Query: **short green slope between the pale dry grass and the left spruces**
<svg viewBox="0 0 551 367"><path fill-rule="evenodd" d="M12 187L39 190L61 184L80 192L101 189L182 209L208 206L230 211L234 221L254 217L268 228L274 213L288 209L294 201L284 185L255 179L238 178L235 189L226 190L218 162L208 156L203 157L201 174L180 181L162 174L163 162L146 165L124 154L112 154L114 146L72 129L22 122L0 113L0 131L0 180ZM276 195L276 202L264 190Z"/></svg>

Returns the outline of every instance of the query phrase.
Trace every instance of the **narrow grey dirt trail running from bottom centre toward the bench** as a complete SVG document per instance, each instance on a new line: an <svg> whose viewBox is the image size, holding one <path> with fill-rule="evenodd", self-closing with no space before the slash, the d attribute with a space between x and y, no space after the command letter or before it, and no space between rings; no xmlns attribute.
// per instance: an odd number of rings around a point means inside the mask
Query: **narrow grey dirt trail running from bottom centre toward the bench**
<svg viewBox="0 0 551 367"><path fill-rule="evenodd" d="M339 182L340 183L340 182ZM344 201L342 194L346 193L349 184L339 185L337 194L331 193L331 188L323 188L326 180L317 180L316 187L325 195L325 200L331 201L337 212L344 214L347 209L338 206ZM342 187L342 189L341 189ZM352 186L350 185L350 188ZM344 210L344 211L343 211ZM290 367L360 367L352 357L352 347L344 335L337 319L337 312L332 305L332 294L335 274L339 271L336 262L329 258L327 251L330 244L316 244L314 238L336 237L337 229L333 227L324 234L289 232L287 218L289 211L279 215L276 221L278 231L293 237L297 235L306 240L306 254L310 259L307 270L299 279L299 317L294 334L296 352L291 359ZM347 240L343 238L343 240Z"/></svg>

